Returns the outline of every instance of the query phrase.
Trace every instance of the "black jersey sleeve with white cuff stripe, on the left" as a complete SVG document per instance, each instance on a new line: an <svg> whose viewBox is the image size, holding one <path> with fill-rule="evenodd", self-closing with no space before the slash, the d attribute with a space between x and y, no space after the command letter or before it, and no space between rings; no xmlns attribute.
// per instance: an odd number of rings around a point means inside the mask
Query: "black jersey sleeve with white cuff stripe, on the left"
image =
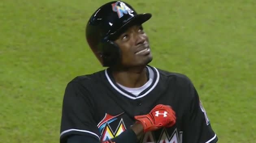
<svg viewBox="0 0 256 143"><path fill-rule="evenodd" d="M77 82L69 82L63 97L60 143L70 135L89 135L100 139L94 120L93 100L89 91Z"/></svg>

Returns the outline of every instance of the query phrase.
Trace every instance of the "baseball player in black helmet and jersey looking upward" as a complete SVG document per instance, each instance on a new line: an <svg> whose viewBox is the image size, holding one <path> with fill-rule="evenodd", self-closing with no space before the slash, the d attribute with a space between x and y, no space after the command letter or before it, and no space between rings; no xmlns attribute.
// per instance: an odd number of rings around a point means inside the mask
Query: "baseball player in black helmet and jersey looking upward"
<svg viewBox="0 0 256 143"><path fill-rule="evenodd" d="M121 1L93 13L86 38L106 69L67 84L60 143L217 142L191 80L148 65L151 16Z"/></svg>

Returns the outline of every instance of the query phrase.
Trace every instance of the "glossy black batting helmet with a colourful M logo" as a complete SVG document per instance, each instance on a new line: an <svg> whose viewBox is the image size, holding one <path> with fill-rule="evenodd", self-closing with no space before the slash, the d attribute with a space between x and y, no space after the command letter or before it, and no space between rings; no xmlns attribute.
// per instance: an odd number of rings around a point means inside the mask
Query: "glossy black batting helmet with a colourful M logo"
<svg viewBox="0 0 256 143"><path fill-rule="evenodd" d="M117 64L121 52L113 42L125 29L134 24L142 24L151 18L150 13L137 14L122 1L108 2L98 8L86 26L87 42L104 67Z"/></svg>

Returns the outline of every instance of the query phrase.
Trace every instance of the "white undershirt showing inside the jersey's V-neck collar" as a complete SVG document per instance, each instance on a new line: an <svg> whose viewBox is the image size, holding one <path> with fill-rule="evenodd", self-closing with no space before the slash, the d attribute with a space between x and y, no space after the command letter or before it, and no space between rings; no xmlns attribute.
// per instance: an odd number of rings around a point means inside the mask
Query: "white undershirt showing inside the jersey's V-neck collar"
<svg viewBox="0 0 256 143"><path fill-rule="evenodd" d="M126 90L127 92L132 93L135 96L138 96L143 90L145 90L146 88L148 88L152 84L153 79L154 79L154 71L150 67L147 67L147 68L148 68L149 80L143 86L137 87L137 88L130 88L130 87L123 86L119 83L117 83L117 84L121 88Z"/></svg>

